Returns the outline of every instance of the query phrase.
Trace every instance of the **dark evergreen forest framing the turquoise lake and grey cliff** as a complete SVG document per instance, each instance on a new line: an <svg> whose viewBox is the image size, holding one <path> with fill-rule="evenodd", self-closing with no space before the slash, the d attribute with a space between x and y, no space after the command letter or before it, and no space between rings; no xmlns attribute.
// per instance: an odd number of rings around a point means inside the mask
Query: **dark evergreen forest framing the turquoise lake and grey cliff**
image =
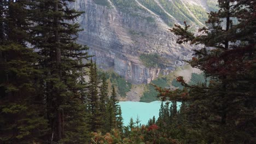
<svg viewBox="0 0 256 144"><path fill-rule="evenodd" d="M219 0L196 34L186 21L174 25L177 43L200 45L188 63L205 81L177 76L175 90L152 83L155 97L171 103L147 125L137 118L127 126L116 89L108 92L89 48L75 43L83 12L70 9L72 2L0 2L0 143L256 143L254 0Z"/></svg>

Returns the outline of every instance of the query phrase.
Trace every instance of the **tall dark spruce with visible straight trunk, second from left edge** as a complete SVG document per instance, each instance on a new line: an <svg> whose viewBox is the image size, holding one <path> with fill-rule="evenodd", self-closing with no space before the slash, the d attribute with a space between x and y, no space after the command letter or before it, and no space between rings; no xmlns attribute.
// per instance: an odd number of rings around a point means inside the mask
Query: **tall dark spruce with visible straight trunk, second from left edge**
<svg viewBox="0 0 256 144"><path fill-rule="evenodd" d="M50 125L48 141L84 143L86 123L84 101L80 91L84 85L83 68L88 48L75 43L80 31L74 20L82 14L68 8L72 0L41 1L30 3L30 43L41 56L38 65L43 71L40 81ZM75 134L76 133L76 134Z"/></svg>

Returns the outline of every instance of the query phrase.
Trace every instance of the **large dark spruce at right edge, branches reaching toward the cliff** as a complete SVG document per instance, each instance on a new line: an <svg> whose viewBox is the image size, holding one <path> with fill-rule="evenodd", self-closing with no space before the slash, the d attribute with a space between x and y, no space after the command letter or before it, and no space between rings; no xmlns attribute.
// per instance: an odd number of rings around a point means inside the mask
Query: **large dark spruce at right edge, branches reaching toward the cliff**
<svg viewBox="0 0 256 144"><path fill-rule="evenodd" d="M219 0L200 35L189 26L176 25L177 43L202 44L189 63L209 77L209 85L189 86L170 92L157 88L160 96L189 103L188 118L193 129L202 131L207 143L255 143L255 1ZM237 20L234 23L233 20ZM164 94L165 93L165 94ZM230 133L226 133L230 131ZM197 141L198 142L198 141Z"/></svg>

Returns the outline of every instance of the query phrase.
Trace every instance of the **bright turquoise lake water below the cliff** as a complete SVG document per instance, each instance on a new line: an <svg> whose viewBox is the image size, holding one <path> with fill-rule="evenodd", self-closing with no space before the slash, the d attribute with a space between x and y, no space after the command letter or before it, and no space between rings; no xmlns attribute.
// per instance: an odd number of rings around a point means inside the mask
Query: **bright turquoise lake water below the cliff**
<svg viewBox="0 0 256 144"><path fill-rule="evenodd" d="M133 118L133 122L135 122L138 116L141 124L145 125L150 118L153 118L153 116L155 116L155 119L158 119L161 103L161 101L153 101L151 103L120 101L119 105L121 106L124 125L126 126L129 124L131 117ZM166 102L164 102L164 104L165 103ZM181 103L177 103L178 107L179 105L181 105Z"/></svg>

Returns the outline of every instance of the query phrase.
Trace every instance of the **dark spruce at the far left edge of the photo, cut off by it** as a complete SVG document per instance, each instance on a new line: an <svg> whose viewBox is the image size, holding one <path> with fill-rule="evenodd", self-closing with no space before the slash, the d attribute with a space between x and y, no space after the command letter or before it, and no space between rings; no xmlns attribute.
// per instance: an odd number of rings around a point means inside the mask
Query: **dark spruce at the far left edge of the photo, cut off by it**
<svg viewBox="0 0 256 144"><path fill-rule="evenodd" d="M27 1L0 2L0 143L42 142L48 132L45 106L38 97L38 55L30 38Z"/></svg>

